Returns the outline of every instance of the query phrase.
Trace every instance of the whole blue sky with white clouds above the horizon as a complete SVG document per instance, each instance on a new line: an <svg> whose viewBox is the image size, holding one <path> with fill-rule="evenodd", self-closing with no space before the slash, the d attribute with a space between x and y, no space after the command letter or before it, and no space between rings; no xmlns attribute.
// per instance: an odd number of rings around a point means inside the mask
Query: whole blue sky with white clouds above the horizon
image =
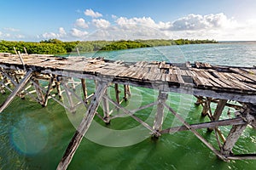
<svg viewBox="0 0 256 170"><path fill-rule="evenodd" d="M254 0L8 0L0 39L256 40Z"/></svg>

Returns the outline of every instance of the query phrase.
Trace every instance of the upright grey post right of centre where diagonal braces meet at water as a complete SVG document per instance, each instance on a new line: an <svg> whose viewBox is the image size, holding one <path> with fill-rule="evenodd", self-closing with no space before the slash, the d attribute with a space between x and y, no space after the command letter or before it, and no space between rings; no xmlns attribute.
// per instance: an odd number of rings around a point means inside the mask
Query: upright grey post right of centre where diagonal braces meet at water
<svg viewBox="0 0 256 170"><path fill-rule="evenodd" d="M158 104L157 104L157 112L155 114L154 117L154 130L156 130L157 132L160 132L162 130L162 124L163 124L163 120L164 120L164 109L165 106L163 105L163 103L166 102L166 99L168 98L168 94L160 91L158 94ZM158 134L154 134L154 137L158 138L159 135Z"/></svg>

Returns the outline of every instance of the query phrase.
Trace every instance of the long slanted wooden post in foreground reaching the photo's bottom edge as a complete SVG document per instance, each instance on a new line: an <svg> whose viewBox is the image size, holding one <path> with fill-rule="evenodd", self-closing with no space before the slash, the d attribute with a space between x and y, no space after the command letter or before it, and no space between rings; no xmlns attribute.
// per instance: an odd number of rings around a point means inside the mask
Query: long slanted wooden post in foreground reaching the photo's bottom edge
<svg viewBox="0 0 256 170"><path fill-rule="evenodd" d="M69 165L70 161L72 161L73 155L75 151L78 149L79 144L81 143L82 138L84 137L84 133L87 132L88 128L90 127L90 123L93 120L93 117L96 115L96 110L98 106L100 105L100 102L102 100L103 94L105 94L105 91L108 87L107 82L100 82L97 89L96 94L94 95L93 99L91 100L91 103L89 105L88 110L86 111L86 114L82 120L82 122L79 125L79 128L77 129L76 133L73 136L73 139L67 146L67 150L62 157L57 170L65 170L67 169L67 166Z"/></svg>

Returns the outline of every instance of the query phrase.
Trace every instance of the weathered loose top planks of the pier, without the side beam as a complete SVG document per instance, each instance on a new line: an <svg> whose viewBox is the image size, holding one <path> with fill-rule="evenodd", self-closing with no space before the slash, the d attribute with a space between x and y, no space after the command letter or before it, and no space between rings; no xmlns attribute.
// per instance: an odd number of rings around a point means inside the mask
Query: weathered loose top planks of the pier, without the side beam
<svg viewBox="0 0 256 170"><path fill-rule="evenodd" d="M23 56L25 65L41 69L75 71L84 74L101 75L143 82L187 83L183 77L191 77L195 88L207 88L230 92L256 93L256 69L237 67L218 67L207 63L195 62L195 65L179 67L165 61L138 61L128 63L121 60L111 61L103 58L49 57L47 55ZM0 55L0 65L21 65L18 56ZM223 69L224 68L224 69Z"/></svg>

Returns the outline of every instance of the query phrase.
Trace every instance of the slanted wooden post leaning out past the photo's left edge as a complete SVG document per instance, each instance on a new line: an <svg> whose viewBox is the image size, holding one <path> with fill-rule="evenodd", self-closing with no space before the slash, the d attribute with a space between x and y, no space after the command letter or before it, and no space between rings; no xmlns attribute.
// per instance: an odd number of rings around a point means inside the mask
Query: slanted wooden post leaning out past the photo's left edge
<svg viewBox="0 0 256 170"><path fill-rule="evenodd" d="M26 83L29 82L30 78L32 77L32 71L26 72L26 76L22 79L20 84L14 89L14 91L9 95L9 97L3 102L0 106L0 113L8 107L8 105L15 99L15 95L20 92L22 88L26 86Z"/></svg>

